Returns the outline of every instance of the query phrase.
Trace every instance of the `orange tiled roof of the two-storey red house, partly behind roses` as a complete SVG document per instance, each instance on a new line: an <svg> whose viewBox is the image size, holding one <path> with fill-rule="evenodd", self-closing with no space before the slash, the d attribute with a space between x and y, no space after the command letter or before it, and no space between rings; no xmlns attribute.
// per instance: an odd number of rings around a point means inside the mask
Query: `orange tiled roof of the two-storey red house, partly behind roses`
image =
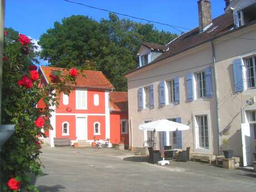
<svg viewBox="0 0 256 192"><path fill-rule="evenodd" d="M51 82L51 71L63 71L63 74L67 73L66 68L60 67L40 67L43 74L47 78L48 82ZM84 75L84 76L83 76ZM101 71L88 71L83 70L82 74L76 77L76 87L90 87L90 88L105 88L113 89L114 86Z"/></svg>

